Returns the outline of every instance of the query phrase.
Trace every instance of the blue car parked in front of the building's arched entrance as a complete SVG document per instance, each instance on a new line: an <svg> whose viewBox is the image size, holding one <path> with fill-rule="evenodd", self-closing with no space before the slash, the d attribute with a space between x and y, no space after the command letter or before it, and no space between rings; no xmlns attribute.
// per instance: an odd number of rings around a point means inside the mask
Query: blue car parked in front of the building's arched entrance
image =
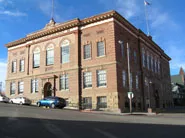
<svg viewBox="0 0 185 138"><path fill-rule="evenodd" d="M49 96L49 97L45 97L42 100L39 100L37 102L37 106L46 106L46 107L50 107L50 108L64 108L66 106L66 101L63 98L60 97L54 97L54 96Z"/></svg>

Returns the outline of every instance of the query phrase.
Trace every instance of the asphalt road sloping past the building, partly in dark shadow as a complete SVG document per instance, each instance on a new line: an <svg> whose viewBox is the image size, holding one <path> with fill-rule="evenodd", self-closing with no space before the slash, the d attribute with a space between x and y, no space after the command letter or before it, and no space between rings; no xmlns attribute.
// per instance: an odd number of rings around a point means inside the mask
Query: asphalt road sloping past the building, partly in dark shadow
<svg viewBox="0 0 185 138"><path fill-rule="evenodd" d="M115 116L0 103L0 138L184 138L185 115Z"/></svg>

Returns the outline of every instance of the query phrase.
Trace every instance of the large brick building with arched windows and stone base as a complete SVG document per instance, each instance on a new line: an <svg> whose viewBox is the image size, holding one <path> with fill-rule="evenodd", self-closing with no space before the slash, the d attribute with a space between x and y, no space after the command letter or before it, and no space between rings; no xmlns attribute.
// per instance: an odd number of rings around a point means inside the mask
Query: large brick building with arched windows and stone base
<svg viewBox="0 0 185 138"><path fill-rule="evenodd" d="M126 111L127 44L132 106L170 106L170 57L116 11L60 24L51 20L42 30L6 44L6 94L33 102L56 95L69 106Z"/></svg>

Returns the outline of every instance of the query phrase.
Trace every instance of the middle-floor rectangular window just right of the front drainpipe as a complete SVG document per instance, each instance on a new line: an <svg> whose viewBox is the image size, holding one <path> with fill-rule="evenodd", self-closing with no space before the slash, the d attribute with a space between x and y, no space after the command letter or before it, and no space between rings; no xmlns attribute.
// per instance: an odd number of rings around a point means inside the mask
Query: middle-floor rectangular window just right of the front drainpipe
<svg viewBox="0 0 185 138"><path fill-rule="evenodd" d="M92 87L92 72L84 72L84 88Z"/></svg>

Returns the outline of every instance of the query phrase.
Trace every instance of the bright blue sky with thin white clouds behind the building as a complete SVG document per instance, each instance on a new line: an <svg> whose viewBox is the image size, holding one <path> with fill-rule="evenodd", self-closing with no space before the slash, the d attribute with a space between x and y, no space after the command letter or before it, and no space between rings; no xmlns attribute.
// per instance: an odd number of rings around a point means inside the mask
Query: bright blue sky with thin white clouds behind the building
<svg viewBox="0 0 185 138"><path fill-rule="evenodd" d="M143 0L54 0L56 22L116 10L146 33ZM184 0L148 0L153 40L172 58L171 74L185 68ZM6 43L42 29L51 17L51 0L0 0L0 81L6 78Z"/></svg>

